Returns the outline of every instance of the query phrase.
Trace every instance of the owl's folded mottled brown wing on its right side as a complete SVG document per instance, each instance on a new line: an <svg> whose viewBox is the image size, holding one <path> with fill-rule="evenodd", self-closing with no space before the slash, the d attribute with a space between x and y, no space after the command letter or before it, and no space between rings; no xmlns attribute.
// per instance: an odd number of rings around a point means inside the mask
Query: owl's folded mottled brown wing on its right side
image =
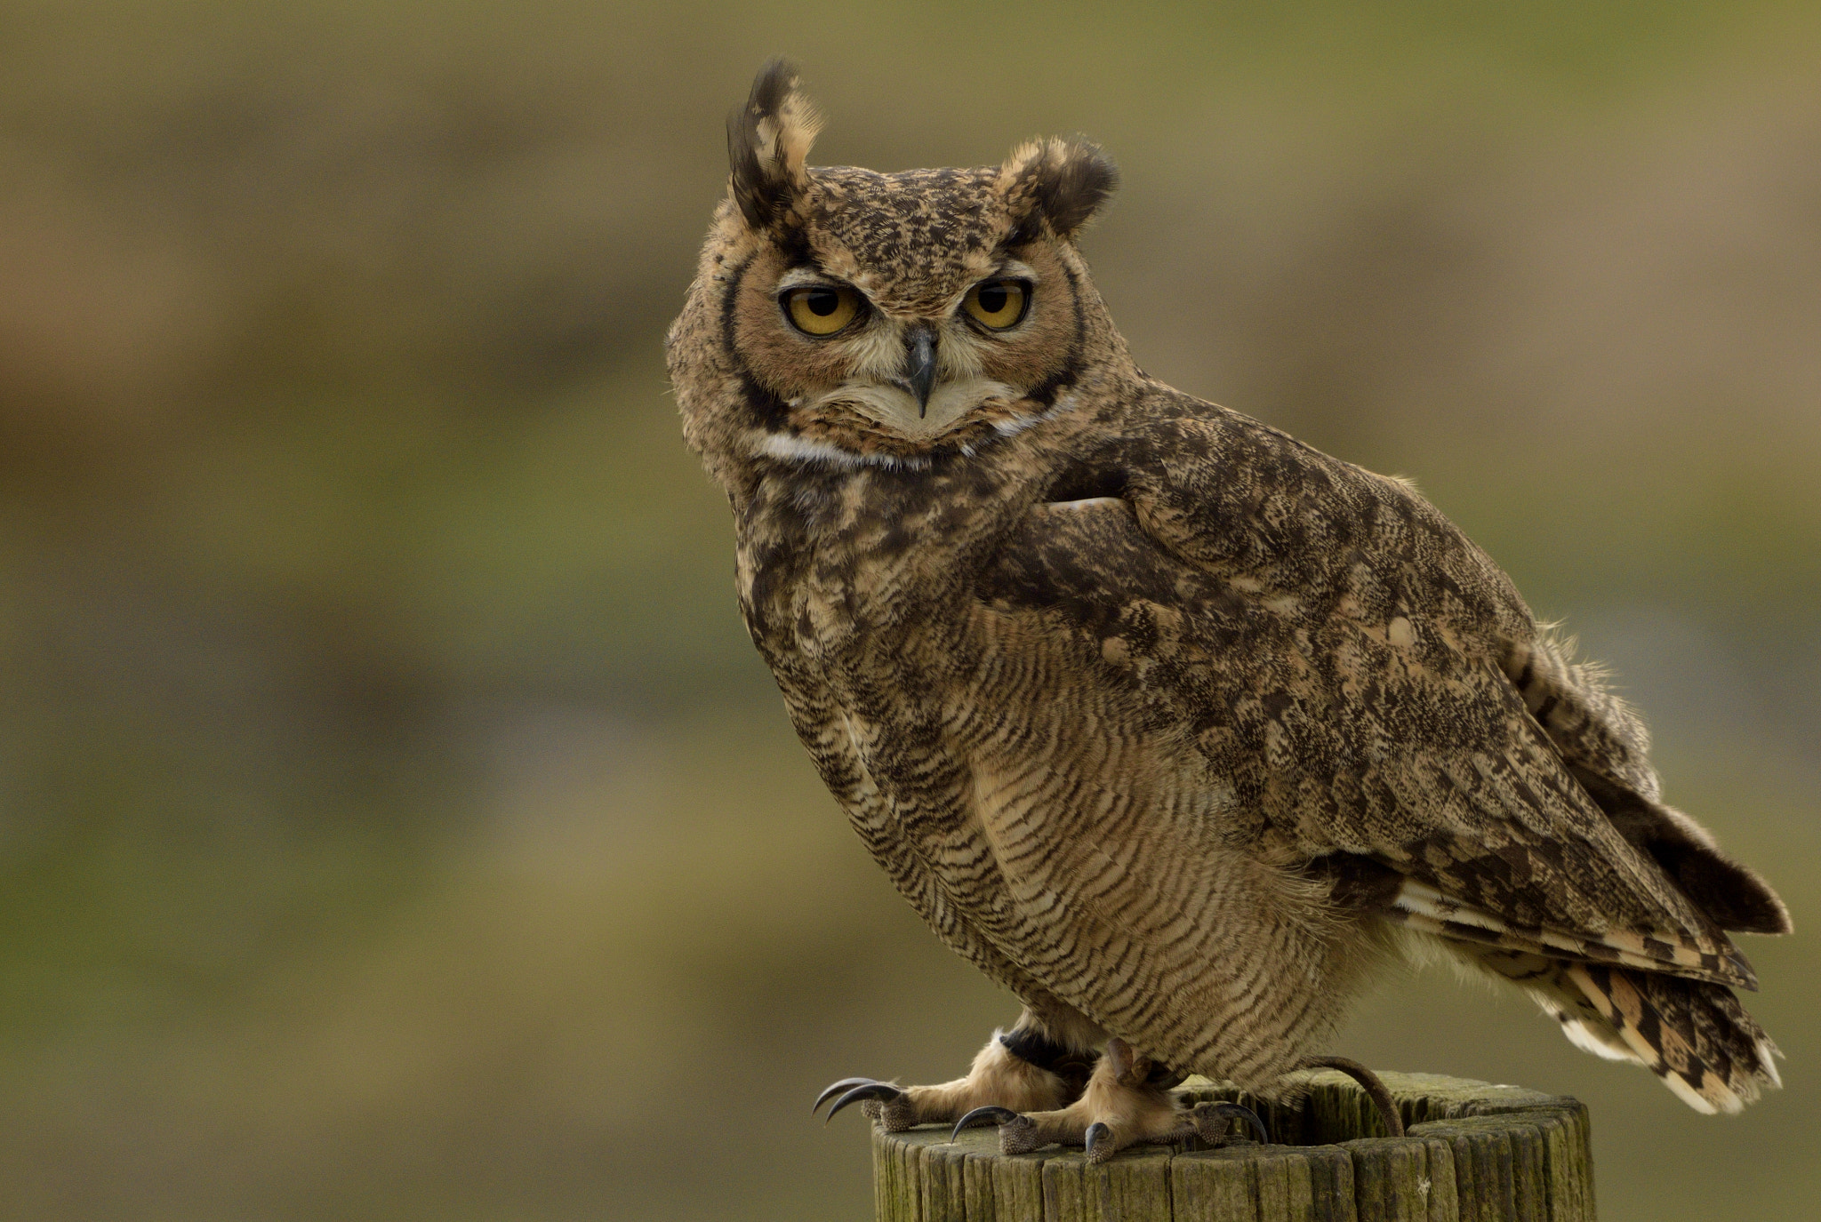
<svg viewBox="0 0 1821 1222"><path fill-rule="evenodd" d="M1224 834L1448 938L1754 987L1526 707L1548 683L1508 674L1537 652L1510 581L1408 484L1204 404L1087 466L1122 495L1040 508L983 592L1042 606L1193 736L1182 783L1231 794ZM1599 763L1653 801L1641 750Z"/></svg>

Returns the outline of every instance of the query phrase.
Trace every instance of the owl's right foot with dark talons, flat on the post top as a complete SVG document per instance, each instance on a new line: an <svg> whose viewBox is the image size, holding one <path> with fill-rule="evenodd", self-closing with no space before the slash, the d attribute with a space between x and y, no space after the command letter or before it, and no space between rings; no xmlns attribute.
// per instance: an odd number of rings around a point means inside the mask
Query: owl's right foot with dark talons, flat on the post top
<svg viewBox="0 0 1821 1222"><path fill-rule="evenodd" d="M954 1133L974 1122L1000 1125L1000 1151L1023 1155L1042 1146L1083 1146L1087 1160L1100 1164L1144 1142L1182 1142L1198 1136L1211 1146L1224 1146L1235 1118L1256 1129L1258 1140L1269 1140L1264 1124L1238 1104L1198 1104L1193 1111L1178 1111L1165 1085L1167 1073L1149 1058L1136 1056L1125 1040L1107 1040L1107 1054L1100 1058L1082 1098L1058 1111L1018 1115L1009 1107L976 1107L961 1116Z"/></svg>

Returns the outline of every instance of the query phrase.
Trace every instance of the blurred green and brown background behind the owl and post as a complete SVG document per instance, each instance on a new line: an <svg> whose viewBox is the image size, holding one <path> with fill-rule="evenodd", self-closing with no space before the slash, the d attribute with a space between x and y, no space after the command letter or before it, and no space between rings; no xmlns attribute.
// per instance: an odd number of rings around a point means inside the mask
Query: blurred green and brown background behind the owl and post
<svg viewBox="0 0 1821 1222"><path fill-rule="evenodd" d="M1763 867L1790 1089L1517 996L1351 1056L1588 1100L1608 1220L1821 1198L1821 9L0 7L0 1215L865 1218L832 1078L1016 1003L892 894L739 626L661 335L723 115L1085 131L1142 364L1413 475Z"/></svg>

